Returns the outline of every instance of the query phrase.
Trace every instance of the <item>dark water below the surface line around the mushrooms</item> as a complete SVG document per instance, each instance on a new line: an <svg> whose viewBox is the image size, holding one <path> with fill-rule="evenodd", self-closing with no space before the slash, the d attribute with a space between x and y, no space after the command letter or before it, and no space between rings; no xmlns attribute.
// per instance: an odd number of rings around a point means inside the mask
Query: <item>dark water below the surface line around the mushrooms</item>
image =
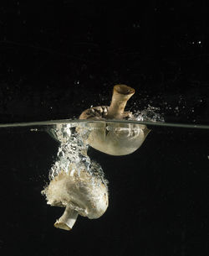
<svg viewBox="0 0 209 256"><path fill-rule="evenodd" d="M31 127L34 128L34 127ZM208 251L208 129L150 126L135 153L90 148L109 180L102 217L56 229L63 209L40 194L59 143L47 132L1 128L3 255L203 255ZM44 131L45 130L45 131Z"/></svg>

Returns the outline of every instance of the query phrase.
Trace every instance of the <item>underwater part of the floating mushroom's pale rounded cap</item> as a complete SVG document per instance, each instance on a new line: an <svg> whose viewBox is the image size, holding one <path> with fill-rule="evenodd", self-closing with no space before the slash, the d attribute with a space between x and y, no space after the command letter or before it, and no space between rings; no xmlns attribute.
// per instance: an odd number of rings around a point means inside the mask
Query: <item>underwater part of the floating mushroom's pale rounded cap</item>
<svg viewBox="0 0 209 256"><path fill-rule="evenodd" d="M83 125L80 124L81 127ZM145 125L137 123L86 123L83 129L89 133L85 139L86 144L111 155L126 155L135 152L150 132Z"/></svg>

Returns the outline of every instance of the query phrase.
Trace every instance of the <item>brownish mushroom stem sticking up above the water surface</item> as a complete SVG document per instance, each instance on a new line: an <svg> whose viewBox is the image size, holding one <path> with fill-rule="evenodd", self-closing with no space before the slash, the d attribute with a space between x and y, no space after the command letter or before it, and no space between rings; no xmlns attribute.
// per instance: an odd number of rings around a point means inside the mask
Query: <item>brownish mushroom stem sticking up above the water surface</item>
<svg viewBox="0 0 209 256"><path fill-rule="evenodd" d="M107 118L123 118L125 105L134 93L135 89L131 88L130 86L114 86L112 101L109 107Z"/></svg>

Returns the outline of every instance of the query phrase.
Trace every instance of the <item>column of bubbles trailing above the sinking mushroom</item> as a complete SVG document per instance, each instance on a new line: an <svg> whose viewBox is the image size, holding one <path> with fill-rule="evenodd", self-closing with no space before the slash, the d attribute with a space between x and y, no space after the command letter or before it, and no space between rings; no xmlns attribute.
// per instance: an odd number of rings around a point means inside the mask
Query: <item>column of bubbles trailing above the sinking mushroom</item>
<svg viewBox="0 0 209 256"><path fill-rule="evenodd" d="M49 171L49 180L54 180L61 170L67 173L71 170L71 173L77 172L78 175L81 170L85 170L93 177L93 183L98 180L94 178L99 177L104 185L108 184L101 166L87 155L89 146L84 144L84 136L88 136L88 127L82 129L83 138L76 132L75 123L58 124L49 133L60 143L57 160Z"/></svg>

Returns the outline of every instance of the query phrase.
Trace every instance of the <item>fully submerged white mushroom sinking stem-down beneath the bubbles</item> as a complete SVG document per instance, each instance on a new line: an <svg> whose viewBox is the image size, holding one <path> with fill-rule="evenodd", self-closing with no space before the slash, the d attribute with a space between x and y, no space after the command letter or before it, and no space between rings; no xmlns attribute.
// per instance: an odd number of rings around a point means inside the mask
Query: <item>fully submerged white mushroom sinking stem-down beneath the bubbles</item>
<svg viewBox="0 0 209 256"><path fill-rule="evenodd" d="M108 188L99 176L86 170L76 170L71 164L69 171L61 170L44 189L48 204L65 207L64 214L54 223L54 227L71 230L78 215L99 218L106 211Z"/></svg>

